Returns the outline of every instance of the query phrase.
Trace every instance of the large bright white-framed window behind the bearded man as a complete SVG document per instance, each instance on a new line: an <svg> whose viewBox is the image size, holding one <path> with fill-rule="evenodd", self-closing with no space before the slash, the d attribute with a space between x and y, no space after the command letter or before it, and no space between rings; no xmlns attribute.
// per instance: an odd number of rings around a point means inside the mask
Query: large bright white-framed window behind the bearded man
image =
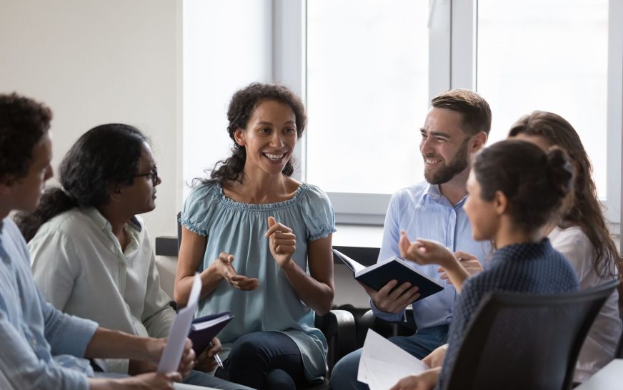
<svg viewBox="0 0 623 390"><path fill-rule="evenodd" d="M389 194L422 180L418 130L429 100L470 88L492 106L490 142L534 110L567 118L618 222L620 3L307 1L304 180L329 193L339 222L381 222Z"/></svg>

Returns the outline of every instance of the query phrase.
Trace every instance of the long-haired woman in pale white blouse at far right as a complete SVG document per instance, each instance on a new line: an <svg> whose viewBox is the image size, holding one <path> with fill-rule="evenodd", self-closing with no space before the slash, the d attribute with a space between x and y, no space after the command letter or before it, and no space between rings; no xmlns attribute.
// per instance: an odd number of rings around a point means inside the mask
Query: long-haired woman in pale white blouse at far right
<svg viewBox="0 0 623 390"><path fill-rule="evenodd" d="M597 286L617 277L623 269L623 260L609 237L591 178L592 165L572 125L554 113L534 111L512 125L509 137L529 140L544 150L554 145L567 150L577 173L574 193L569 197L567 211L550 227L549 240L573 265L580 288ZM622 331L621 293L619 285L597 315L580 351L574 381L586 381L613 359Z"/></svg>

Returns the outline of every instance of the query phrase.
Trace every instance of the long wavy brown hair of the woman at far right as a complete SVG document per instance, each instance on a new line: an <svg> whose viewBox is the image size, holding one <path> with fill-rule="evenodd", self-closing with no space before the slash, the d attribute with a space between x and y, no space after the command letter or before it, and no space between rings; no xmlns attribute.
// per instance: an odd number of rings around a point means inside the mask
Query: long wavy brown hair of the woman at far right
<svg viewBox="0 0 623 390"><path fill-rule="evenodd" d="M573 204L562 216L558 226L561 228L579 226L587 235L594 249L593 267L600 277L616 276L612 267L609 267L610 257L617 265L619 273L623 272L623 259L609 235L602 207L597 200L597 186L592 180L591 160L571 123L555 113L534 111L527 116L522 116L511 126L509 137L519 134L539 136L547 140L549 145L556 145L567 150L576 172ZM623 286L621 285L619 285L619 298L623 299Z"/></svg>

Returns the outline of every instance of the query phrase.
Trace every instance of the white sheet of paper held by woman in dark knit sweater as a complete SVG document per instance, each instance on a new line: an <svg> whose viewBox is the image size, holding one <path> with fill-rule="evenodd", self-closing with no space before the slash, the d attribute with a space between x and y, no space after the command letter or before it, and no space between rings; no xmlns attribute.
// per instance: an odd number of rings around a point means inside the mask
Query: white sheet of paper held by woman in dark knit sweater
<svg viewBox="0 0 623 390"><path fill-rule="evenodd" d="M369 329L357 380L368 384L370 390L387 390L405 376L421 374L427 369L429 366L420 359Z"/></svg>

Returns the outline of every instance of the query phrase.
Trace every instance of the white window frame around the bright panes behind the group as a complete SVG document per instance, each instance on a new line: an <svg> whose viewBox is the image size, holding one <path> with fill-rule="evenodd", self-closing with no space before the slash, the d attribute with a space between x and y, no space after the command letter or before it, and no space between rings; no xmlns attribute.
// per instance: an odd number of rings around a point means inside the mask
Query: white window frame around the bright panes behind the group
<svg viewBox="0 0 623 390"><path fill-rule="evenodd" d="M429 74L429 99L452 88L477 91L478 1L430 0L429 6L429 68L435 69ZM304 102L306 9L306 0L273 0L274 80L293 88ZM607 220L612 222L611 232L619 235L619 222L623 219L623 1L609 0L608 17L607 195L601 201ZM296 145L295 155L295 178L305 180L306 135ZM327 194L337 222L357 225L383 225L392 196Z"/></svg>

